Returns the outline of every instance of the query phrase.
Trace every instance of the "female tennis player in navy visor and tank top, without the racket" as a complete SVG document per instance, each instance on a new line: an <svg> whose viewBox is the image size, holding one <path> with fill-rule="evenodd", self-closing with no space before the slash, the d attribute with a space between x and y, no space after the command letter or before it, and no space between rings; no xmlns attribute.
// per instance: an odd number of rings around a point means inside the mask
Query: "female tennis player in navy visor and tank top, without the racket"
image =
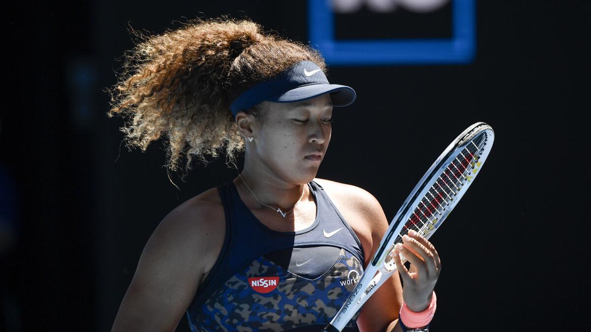
<svg viewBox="0 0 591 332"><path fill-rule="evenodd" d="M355 91L330 84L322 56L252 21L192 20L126 54L110 116L128 144L164 135L167 167L225 151L242 172L176 207L148 240L112 331L320 331L348 299L388 228L382 207L316 173L333 108ZM360 115L362 116L362 115ZM182 164L182 163L181 163ZM411 232L398 276L345 331L427 330L441 262ZM400 319L399 319L400 314Z"/></svg>

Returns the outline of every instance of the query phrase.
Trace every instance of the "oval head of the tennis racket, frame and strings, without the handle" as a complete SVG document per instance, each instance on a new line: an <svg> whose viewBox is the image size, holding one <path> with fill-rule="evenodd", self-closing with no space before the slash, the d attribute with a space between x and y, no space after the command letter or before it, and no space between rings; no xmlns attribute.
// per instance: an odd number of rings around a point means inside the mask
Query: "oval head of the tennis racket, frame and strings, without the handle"
<svg viewBox="0 0 591 332"><path fill-rule="evenodd" d="M456 207L479 174L495 140L484 122L469 126L439 155L415 185L397 214L371 265L382 271L395 270L389 253L411 229L429 239ZM405 258L401 255L404 262ZM382 265L382 263L384 263Z"/></svg>

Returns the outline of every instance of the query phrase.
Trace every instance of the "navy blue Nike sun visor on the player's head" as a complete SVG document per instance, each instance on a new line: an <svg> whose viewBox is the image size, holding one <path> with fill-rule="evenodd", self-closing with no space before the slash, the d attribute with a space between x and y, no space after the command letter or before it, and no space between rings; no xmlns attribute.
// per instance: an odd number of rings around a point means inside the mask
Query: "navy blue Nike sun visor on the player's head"
<svg viewBox="0 0 591 332"><path fill-rule="evenodd" d="M291 103L330 93L333 106L348 106L355 101L355 90L348 86L330 84L322 69L312 61L300 61L277 76L252 86L230 105L232 115L258 103Z"/></svg>

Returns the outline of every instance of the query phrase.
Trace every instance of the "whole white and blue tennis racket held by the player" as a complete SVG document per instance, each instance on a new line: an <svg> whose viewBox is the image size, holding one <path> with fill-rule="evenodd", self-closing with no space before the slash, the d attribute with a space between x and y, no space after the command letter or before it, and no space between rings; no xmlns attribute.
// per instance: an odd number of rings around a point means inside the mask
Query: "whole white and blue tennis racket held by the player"
<svg viewBox="0 0 591 332"><path fill-rule="evenodd" d="M402 236L412 229L428 239L439 229L479 174L494 139L491 126L478 122L443 151L408 195L357 286L323 331L341 331L376 289L396 272L391 252L397 243L402 243ZM400 258L406 262L402 254Z"/></svg>

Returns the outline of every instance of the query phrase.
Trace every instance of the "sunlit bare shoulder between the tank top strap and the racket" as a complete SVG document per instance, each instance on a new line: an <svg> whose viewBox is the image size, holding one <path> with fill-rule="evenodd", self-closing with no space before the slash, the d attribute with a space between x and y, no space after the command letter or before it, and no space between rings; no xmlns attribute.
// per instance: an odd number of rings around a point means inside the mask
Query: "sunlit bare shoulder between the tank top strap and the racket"
<svg viewBox="0 0 591 332"><path fill-rule="evenodd" d="M359 237L369 261L386 229L388 220L379 201L368 191L355 185L315 178L335 203L336 208Z"/></svg>

